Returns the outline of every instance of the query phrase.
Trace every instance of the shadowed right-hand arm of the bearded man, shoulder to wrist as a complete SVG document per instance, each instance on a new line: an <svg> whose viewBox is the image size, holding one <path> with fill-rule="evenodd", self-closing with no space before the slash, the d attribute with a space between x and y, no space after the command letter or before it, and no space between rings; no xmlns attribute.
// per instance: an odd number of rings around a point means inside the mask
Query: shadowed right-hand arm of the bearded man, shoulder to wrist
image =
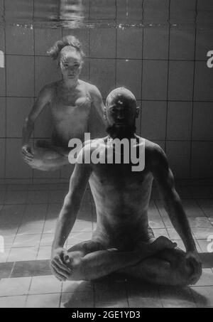
<svg viewBox="0 0 213 322"><path fill-rule="evenodd" d="M196 252L195 241L192 237L190 225L187 220L180 197L175 190L175 180L168 165L167 157L160 146L155 146L152 153L152 172L158 185L163 203L175 230L184 242L187 252Z"/></svg>

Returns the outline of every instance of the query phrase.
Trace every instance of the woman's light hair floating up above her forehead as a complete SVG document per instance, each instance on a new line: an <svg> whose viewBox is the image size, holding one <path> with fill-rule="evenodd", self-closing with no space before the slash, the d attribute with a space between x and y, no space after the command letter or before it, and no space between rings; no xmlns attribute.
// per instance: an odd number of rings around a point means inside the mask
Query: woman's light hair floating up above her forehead
<svg viewBox="0 0 213 322"><path fill-rule="evenodd" d="M53 59L57 59L62 48L66 46L72 46L77 51L79 51L82 58L84 57L84 52L82 51L82 44L75 36L65 36L61 41L56 41L56 43L48 50L48 55Z"/></svg>

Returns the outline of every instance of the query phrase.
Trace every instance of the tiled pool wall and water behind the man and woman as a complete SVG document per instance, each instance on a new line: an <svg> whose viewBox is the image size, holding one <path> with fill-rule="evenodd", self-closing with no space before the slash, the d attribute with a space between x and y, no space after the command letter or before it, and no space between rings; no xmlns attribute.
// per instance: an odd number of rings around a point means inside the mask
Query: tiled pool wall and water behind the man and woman
<svg viewBox="0 0 213 322"><path fill-rule="evenodd" d="M104 100L120 86L136 95L137 133L165 149L175 178L212 178L211 0L0 0L0 11L0 180L70 176L69 168L32 171L19 154L23 120L38 92L61 77L47 50L70 34L86 53L82 80L97 85ZM98 128L95 115L92 126ZM45 109L32 144L50 130Z"/></svg>

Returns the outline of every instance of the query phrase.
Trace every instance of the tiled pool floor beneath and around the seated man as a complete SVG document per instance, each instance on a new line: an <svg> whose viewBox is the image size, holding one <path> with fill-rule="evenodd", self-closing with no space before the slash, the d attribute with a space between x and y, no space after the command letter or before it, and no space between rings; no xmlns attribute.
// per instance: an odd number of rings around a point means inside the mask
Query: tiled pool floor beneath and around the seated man
<svg viewBox="0 0 213 322"><path fill-rule="evenodd" d="M11 186L0 191L0 307L28 308L169 308L213 306L213 199L209 189L180 187L183 206L197 238L204 264L195 286L170 288L151 286L124 275L111 274L97 281L61 283L50 270L51 245L55 225L67 185ZM192 188L192 189L191 189ZM17 190L16 190L17 189ZM211 190L213 191L213 190ZM163 208L163 200L153 193L149 220L155 237L164 235L185 249ZM213 197L213 193L212 193ZM2 205L1 205L2 201ZM212 224L211 224L212 222ZM79 216L65 247L92 237L96 228L94 202L89 190L84 195ZM209 238L209 240L207 240Z"/></svg>

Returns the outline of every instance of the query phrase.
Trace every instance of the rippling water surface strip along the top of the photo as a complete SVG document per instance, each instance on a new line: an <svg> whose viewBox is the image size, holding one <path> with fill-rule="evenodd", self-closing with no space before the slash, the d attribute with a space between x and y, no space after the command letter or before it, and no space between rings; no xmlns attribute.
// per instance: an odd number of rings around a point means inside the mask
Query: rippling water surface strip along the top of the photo
<svg viewBox="0 0 213 322"><path fill-rule="evenodd" d="M183 0L0 0L0 25L213 28L213 5Z"/></svg>

